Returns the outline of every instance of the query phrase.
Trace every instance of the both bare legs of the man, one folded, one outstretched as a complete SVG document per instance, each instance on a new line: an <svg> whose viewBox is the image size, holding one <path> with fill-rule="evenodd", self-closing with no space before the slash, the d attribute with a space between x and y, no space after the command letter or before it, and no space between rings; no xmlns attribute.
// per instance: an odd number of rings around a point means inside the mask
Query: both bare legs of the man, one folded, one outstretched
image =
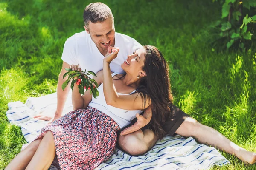
<svg viewBox="0 0 256 170"><path fill-rule="evenodd" d="M157 137L154 135L154 133L150 135L151 137L149 139L143 138L143 136L148 136L148 132L150 131L145 130L142 132L140 130L138 133L139 135L134 134L137 133L134 132L125 136L119 136L119 145L131 155L137 155L134 154L137 152L139 152L139 154L143 154L153 147L157 141ZM143 133L143 135L141 133ZM256 153L249 152L239 147L217 130L202 125L193 118L189 117L185 119L175 133L185 137L192 136L200 143L208 144L224 150L227 153L234 154L236 157L246 163L254 164L256 162Z"/></svg>

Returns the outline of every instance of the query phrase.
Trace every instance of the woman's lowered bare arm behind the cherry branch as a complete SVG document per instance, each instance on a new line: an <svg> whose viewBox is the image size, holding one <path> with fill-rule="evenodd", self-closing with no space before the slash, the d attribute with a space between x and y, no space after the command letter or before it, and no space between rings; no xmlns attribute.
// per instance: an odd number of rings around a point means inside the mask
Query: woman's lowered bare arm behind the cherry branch
<svg viewBox="0 0 256 170"><path fill-rule="evenodd" d="M93 76L93 79L100 85L103 80L103 72L99 71L96 73L96 76ZM82 109L82 108L87 108L89 103L92 101L92 94L90 94L90 90L85 91L84 95L81 95L79 93L78 85L74 85L73 91L72 91L72 105L73 109Z"/></svg>

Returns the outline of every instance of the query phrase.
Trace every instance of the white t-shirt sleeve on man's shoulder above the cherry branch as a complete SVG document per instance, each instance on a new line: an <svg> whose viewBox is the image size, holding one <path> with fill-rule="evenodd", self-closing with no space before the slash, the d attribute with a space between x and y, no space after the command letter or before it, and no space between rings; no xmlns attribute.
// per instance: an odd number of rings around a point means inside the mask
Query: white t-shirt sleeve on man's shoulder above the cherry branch
<svg viewBox="0 0 256 170"><path fill-rule="evenodd" d="M66 40L63 48L63 53L61 59L64 62L67 62L69 65L78 65L78 57L77 57L77 44L76 39L74 37L70 37Z"/></svg>

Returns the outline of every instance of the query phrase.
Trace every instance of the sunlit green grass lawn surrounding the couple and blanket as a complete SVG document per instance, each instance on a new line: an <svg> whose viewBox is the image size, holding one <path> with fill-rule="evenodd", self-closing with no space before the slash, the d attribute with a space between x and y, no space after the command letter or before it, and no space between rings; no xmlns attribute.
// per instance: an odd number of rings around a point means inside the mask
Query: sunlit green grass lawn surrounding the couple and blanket
<svg viewBox="0 0 256 170"><path fill-rule="evenodd" d="M20 152L25 139L6 118L7 103L56 91L65 40L83 31L89 0L0 2L0 169ZM175 105L256 152L256 51L219 51L209 25L221 6L206 0L106 0L116 31L155 45L169 60ZM220 45L221 46L221 45ZM231 166L247 170L232 155Z"/></svg>

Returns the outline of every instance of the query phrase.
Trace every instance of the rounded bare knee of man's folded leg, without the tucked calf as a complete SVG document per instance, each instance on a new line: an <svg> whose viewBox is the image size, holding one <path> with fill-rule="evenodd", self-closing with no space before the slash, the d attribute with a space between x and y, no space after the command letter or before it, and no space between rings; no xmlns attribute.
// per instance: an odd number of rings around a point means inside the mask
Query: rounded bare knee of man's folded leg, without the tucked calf
<svg viewBox="0 0 256 170"><path fill-rule="evenodd" d="M128 135L119 136L118 144L119 146L130 155L142 155L147 152L148 147L143 140L142 130L138 130L134 133Z"/></svg>

